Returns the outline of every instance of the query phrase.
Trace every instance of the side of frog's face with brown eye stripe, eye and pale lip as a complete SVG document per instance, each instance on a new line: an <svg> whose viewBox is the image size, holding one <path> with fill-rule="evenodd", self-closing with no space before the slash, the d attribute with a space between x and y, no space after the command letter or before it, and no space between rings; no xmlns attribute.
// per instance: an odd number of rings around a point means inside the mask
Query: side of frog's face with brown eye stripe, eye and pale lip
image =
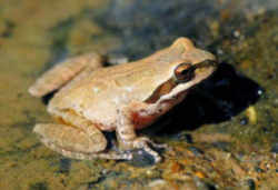
<svg viewBox="0 0 278 190"><path fill-rule="evenodd" d="M160 84L145 102L156 103L160 99L167 99L167 97L172 97L172 94L187 91L208 78L216 68L216 60L205 60L197 64L181 63L179 68L175 70L175 74Z"/></svg>

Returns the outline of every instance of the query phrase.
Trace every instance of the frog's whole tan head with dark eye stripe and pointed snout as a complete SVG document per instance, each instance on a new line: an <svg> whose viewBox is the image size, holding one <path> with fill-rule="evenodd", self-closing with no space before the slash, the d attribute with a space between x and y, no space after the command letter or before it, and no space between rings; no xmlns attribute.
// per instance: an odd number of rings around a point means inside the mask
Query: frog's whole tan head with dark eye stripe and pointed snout
<svg viewBox="0 0 278 190"><path fill-rule="evenodd" d="M187 38L177 39L166 51L176 58L165 62L163 67L167 68L167 72L163 74L167 78L148 98L147 102L155 103L187 92L207 79L217 68L215 56L197 49Z"/></svg>

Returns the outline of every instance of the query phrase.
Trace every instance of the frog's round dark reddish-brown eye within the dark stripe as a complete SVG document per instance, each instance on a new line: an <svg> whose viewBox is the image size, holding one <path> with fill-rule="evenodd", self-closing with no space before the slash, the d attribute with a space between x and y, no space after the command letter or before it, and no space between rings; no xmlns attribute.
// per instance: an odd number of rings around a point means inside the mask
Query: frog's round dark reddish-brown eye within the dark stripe
<svg viewBox="0 0 278 190"><path fill-rule="evenodd" d="M187 82L195 77L195 67L191 63L180 63L173 71L176 82Z"/></svg>

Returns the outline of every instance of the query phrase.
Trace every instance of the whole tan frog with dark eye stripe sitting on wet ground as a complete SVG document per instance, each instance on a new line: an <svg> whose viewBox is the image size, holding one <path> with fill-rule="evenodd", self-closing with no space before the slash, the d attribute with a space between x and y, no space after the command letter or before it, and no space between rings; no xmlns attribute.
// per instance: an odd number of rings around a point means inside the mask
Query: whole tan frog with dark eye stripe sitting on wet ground
<svg viewBox="0 0 278 190"><path fill-rule="evenodd" d="M37 123L33 132L46 147L72 159L132 160L135 150L143 150L160 162L157 149L167 146L137 131L209 78L216 57L179 37L147 58L103 67L107 61L96 52L76 56L38 78L29 93L41 98L57 91L47 106L54 121ZM109 148L105 132L116 133L117 148Z"/></svg>

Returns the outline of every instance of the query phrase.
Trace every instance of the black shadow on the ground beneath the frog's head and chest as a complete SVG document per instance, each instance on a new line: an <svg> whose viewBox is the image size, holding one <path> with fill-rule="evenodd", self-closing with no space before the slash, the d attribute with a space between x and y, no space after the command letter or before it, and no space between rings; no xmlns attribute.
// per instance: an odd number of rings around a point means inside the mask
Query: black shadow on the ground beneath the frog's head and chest
<svg viewBox="0 0 278 190"><path fill-rule="evenodd" d="M205 123L227 121L257 102L262 92L254 80L238 73L231 64L221 63L214 76L192 89L150 131L176 133L185 129L195 130ZM146 131L149 132L148 129Z"/></svg>

